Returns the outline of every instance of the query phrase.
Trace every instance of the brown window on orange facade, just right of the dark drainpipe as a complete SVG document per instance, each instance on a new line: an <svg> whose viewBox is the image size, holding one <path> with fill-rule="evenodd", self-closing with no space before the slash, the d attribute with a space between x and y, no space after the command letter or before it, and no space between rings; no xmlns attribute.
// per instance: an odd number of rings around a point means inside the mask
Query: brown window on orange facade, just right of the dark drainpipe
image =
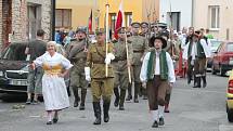
<svg viewBox="0 0 233 131"><path fill-rule="evenodd" d="M56 9L55 26L56 27L72 27L72 10L70 9Z"/></svg>

